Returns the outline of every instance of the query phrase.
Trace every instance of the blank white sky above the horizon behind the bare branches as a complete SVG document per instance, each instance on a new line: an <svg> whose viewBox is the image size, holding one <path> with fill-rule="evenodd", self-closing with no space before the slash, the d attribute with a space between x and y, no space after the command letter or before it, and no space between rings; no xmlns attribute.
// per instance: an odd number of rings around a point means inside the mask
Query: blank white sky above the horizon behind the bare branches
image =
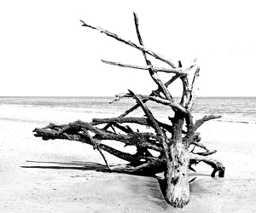
<svg viewBox="0 0 256 213"><path fill-rule="evenodd" d="M147 49L183 66L197 59L200 96L256 96L256 13L253 1L0 2L0 96L149 95L143 54L81 26L84 20L137 42L133 12ZM152 60L154 66L168 66ZM160 74L165 82L170 74ZM182 95L181 81L170 88Z"/></svg>

